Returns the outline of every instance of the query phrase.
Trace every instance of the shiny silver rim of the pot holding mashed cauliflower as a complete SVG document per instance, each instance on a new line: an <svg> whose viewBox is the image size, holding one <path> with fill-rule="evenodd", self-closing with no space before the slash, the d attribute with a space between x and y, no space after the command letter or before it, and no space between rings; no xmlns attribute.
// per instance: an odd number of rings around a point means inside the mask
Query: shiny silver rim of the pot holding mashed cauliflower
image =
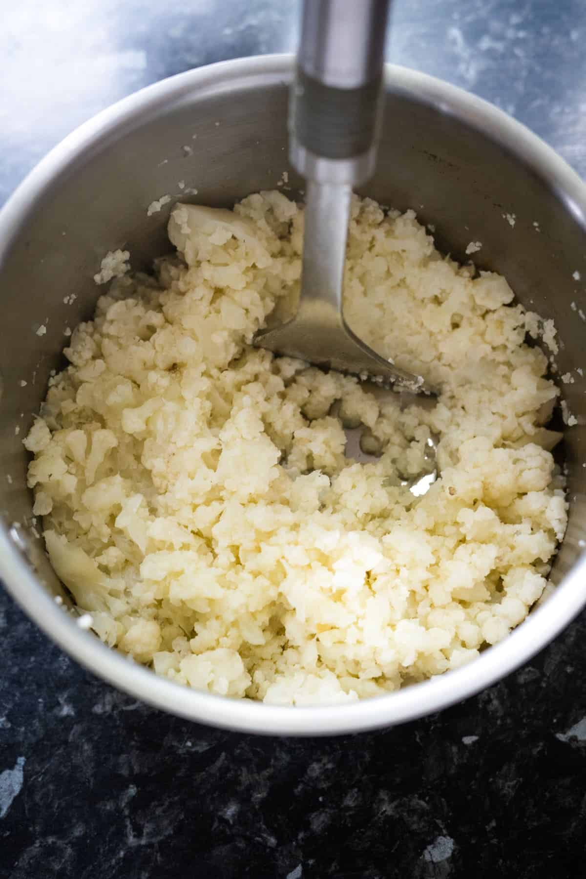
<svg viewBox="0 0 586 879"><path fill-rule="evenodd" d="M292 72L293 56L286 54L219 62L171 76L98 113L54 147L0 211L0 265L40 194L74 159L100 149L106 140L142 125L149 117L156 118L171 102L216 95L235 84L288 84ZM430 105L498 142L545 180L586 228L586 185L561 156L520 122L456 86L394 65L387 65L386 89ZM0 577L26 614L70 656L151 706L222 729L265 735L340 735L372 730L415 720L466 699L516 670L572 621L586 604L585 575L586 556L575 563L543 606L468 665L373 699L293 708L201 693L160 677L106 647L97 636L79 628L73 616L63 613L11 540L9 527L0 522Z"/></svg>

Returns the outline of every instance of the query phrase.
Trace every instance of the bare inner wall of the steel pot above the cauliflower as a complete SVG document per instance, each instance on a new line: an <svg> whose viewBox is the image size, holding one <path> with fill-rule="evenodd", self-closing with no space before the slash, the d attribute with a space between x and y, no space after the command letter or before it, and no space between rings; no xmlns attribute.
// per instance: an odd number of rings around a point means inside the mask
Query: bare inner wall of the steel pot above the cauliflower
<svg viewBox="0 0 586 879"><path fill-rule="evenodd" d="M282 186L299 196L302 181L289 166L287 88L282 77L260 83L244 77L219 94L184 91L105 131L45 185L25 222L13 229L0 260L0 516L22 526L20 539L53 592L61 586L29 531L31 495L25 486L25 436L45 396L52 369L61 364L63 331L91 316L98 295L93 275L106 251L126 248L134 269L148 269L169 250L170 205L147 216L163 195L213 206L261 189ZM288 174L285 182L283 172ZM197 190L197 193L195 192ZM496 141L463 120L401 91L387 94L375 177L365 187L381 203L412 207L433 224L439 248L466 260L467 244L480 269L502 272L519 301L553 317L560 336L556 360L569 410L579 425L567 432L571 513L568 537L554 565L559 581L578 554L584 524L586 462L586 231L580 212ZM506 218L510 214L512 225ZM539 230L538 230L539 228ZM573 273L581 272L583 281ZM76 294L70 304L65 300ZM45 335L37 335L43 324ZM23 385L22 382L26 384ZM18 432L17 432L18 428Z"/></svg>

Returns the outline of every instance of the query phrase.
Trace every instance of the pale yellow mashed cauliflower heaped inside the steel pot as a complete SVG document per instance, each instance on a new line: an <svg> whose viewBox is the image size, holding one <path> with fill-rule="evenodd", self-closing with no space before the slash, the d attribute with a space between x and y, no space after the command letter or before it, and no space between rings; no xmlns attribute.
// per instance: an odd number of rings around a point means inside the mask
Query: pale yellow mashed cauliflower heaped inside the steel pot
<svg viewBox="0 0 586 879"><path fill-rule="evenodd" d="M558 390L525 344L538 316L441 257L413 212L354 201L345 316L435 406L250 346L299 287L302 229L282 193L176 206L179 255L113 280L25 439L54 570L105 643L296 705L477 657L539 599L567 518ZM341 419L377 461L344 456ZM416 498L430 437L439 476Z"/></svg>

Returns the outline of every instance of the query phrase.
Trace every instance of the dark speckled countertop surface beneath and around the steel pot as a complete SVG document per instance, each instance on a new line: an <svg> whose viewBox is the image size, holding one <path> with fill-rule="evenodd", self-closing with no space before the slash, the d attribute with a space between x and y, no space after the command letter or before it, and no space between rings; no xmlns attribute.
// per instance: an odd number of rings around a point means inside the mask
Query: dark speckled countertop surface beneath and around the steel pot
<svg viewBox="0 0 586 879"><path fill-rule="evenodd" d="M291 51L293 0L2 4L0 201L163 76ZM389 57L525 122L586 175L584 0L398 0ZM586 875L586 617L416 723L325 740L207 729L84 672L0 593L0 876Z"/></svg>

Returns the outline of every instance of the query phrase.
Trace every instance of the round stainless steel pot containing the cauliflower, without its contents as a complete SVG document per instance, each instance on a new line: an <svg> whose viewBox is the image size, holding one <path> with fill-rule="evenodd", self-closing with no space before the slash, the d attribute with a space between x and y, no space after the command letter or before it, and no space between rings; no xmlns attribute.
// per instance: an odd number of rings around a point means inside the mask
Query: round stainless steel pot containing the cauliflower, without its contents
<svg viewBox="0 0 586 879"><path fill-rule="evenodd" d="M586 504L586 378L564 386L578 425L568 429L570 518L553 566L555 589L503 643L471 665L350 706L277 708L198 693L109 650L54 600L68 598L34 532L21 439L61 363L63 331L91 316L93 275L106 251L127 248L135 269L169 250L173 200L231 206L302 181L287 161L289 57L250 58L174 76L121 101L69 135L0 214L0 576L47 635L113 685L158 708L233 730L326 735L402 723L502 678L551 641L586 602L580 558ZM586 367L586 187L525 127L429 76L387 70L376 176L364 193L413 207L438 245L503 272L518 299L553 317L561 373ZM192 192L197 189L198 193ZM187 194L186 194L187 193ZM510 215L510 222L507 219ZM514 225L513 225L514 223ZM576 280L575 272L581 274ZM76 294L71 302L70 294ZM575 302L575 308L571 303ZM47 331L40 330L45 326ZM37 332L40 330L40 334Z"/></svg>

